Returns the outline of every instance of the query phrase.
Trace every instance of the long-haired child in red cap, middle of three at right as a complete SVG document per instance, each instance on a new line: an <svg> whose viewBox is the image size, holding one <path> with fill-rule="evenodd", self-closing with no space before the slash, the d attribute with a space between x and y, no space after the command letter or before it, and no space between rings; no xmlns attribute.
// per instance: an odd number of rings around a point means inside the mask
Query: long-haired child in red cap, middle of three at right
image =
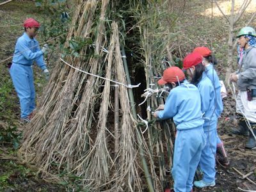
<svg viewBox="0 0 256 192"><path fill-rule="evenodd" d="M191 83L197 86L201 95L201 108L204 117L204 132L207 136L206 145L202 151L200 168L204 173L203 179L194 182L194 186L205 188L215 186L215 154L217 146L217 120L215 113L215 93L211 80L205 74L205 67L202 64L203 58L197 52L186 56L183 61L183 68L191 77Z"/></svg>

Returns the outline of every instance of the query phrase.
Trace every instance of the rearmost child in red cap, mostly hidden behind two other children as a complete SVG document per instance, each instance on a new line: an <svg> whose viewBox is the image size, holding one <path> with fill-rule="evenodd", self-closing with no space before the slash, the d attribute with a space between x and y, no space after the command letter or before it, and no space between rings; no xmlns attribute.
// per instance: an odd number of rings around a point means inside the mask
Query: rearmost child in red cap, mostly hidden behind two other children
<svg viewBox="0 0 256 192"><path fill-rule="evenodd" d="M196 47L193 52L198 52L201 56L203 56L202 63L205 66L205 74L212 81L212 85L214 87L215 96L216 96L214 112L219 118L223 111L223 102L221 98L220 79L216 73L216 70L213 67L213 65L217 64L217 61L215 60L214 56L212 56L211 50L208 49L207 47ZM216 158L218 159L218 162L223 165L229 164L227 152L218 134L217 134Z"/></svg>

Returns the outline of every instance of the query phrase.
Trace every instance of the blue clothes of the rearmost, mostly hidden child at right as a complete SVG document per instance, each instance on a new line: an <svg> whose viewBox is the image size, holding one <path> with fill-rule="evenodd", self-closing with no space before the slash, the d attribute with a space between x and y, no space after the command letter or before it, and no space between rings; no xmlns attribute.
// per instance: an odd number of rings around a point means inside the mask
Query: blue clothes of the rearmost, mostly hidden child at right
<svg viewBox="0 0 256 192"><path fill-rule="evenodd" d="M220 79L216 73L216 70L214 69L212 64L209 64L207 67L205 67L205 74L206 76L212 81L212 85L215 89L215 104L216 104L216 109L215 113L218 117L220 117L222 111L223 111L223 102L221 98L221 84L220 84ZM218 134L217 134L217 144L222 143L220 140Z"/></svg>

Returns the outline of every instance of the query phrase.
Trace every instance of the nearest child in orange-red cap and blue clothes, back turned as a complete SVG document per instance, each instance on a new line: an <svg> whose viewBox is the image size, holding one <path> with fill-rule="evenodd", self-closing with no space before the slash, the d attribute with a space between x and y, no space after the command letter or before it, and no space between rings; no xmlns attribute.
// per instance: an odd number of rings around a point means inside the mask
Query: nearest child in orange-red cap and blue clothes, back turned
<svg viewBox="0 0 256 192"><path fill-rule="evenodd" d="M158 84L167 84L170 91L163 110L154 116L160 119L173 118L177 128L173 154L172 176L175 192L193 191L193 179L205 146L204 120L200 108L200 93L189 84L179 67L164 70Z"/></svg>

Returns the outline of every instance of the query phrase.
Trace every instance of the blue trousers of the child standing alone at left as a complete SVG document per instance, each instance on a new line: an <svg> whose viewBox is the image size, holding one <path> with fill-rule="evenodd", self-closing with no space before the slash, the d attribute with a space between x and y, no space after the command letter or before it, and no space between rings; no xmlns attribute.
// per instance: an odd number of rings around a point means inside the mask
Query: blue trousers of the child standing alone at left
<svg viewBox="0 0 256 192"><path fill-rule="evenodd" d="M28 118L29 114L35 109L33 69L30 65L12 63L10 74L20 100L20 117Z"/></svg>

